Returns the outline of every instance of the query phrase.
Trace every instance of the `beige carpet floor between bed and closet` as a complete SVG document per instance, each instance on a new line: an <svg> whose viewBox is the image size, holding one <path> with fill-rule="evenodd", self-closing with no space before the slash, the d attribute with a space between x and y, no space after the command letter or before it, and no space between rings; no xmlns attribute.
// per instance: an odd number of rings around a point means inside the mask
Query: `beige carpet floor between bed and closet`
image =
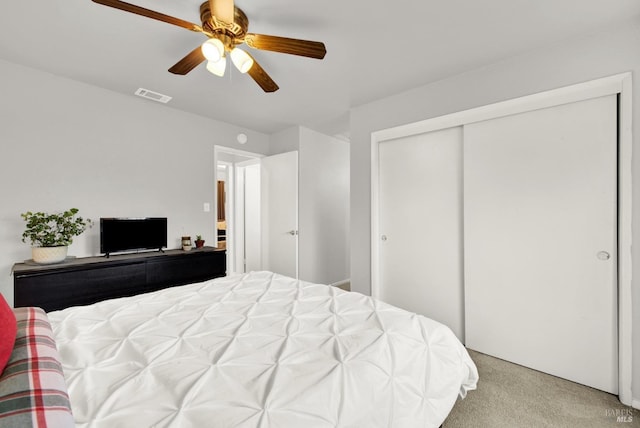
<svg viewBox="0 0 640 428"><path fill-rule="evenodd" d="M614 395L479 352L469 354L480 373L478 389L458 400L445 428L640 427L640 411Z"/></svg>

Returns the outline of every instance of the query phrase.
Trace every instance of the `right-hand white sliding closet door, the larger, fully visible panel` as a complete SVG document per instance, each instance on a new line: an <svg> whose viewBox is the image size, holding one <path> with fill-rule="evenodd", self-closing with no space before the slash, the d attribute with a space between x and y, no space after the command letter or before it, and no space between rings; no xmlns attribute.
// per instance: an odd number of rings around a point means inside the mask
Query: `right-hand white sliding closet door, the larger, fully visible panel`
<svg viewBox="0 0 640 428"><path fill-rule="evenodd" d="M465 126L467 346L617 393L617 100Z"/></svg>

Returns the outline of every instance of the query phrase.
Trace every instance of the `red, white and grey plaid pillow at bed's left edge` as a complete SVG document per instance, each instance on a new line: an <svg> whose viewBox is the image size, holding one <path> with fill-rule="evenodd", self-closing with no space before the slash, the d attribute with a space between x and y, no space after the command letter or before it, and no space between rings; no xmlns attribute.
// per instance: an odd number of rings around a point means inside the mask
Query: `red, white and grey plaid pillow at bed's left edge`
<svg viewBox="0 0 640 428"><path fill-rule="evenodd" d="M14 309L18 334L0 376L0 428L74 427L67 385L47 314Z"/></svg>

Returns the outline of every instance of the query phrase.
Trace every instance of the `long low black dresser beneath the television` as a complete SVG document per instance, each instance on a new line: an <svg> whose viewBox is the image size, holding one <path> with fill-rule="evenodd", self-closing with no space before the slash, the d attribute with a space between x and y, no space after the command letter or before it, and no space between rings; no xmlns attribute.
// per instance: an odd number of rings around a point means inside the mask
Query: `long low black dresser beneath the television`
<svg viewBox="0 0 640 428"><path fill-rule="evenodd" d="M225 276L226 251L213 247L79 257L55 265L13 265L14 306L55 311Z"/></svg>

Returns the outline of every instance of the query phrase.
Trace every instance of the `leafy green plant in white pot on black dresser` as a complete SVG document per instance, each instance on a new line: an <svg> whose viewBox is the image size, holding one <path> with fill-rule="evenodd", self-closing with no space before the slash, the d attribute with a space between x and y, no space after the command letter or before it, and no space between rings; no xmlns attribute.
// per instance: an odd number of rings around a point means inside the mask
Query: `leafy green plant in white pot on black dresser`
<svg viewBox="0 0 640 428"><path fill-rule="evenodd" d="M78 209L48 214L31 212L20 214L27 222L22 242L31 243L33 261L41 264L58 263L67 257L67 249L75 236L91 227L91 219L77 216Z"/></svg>

